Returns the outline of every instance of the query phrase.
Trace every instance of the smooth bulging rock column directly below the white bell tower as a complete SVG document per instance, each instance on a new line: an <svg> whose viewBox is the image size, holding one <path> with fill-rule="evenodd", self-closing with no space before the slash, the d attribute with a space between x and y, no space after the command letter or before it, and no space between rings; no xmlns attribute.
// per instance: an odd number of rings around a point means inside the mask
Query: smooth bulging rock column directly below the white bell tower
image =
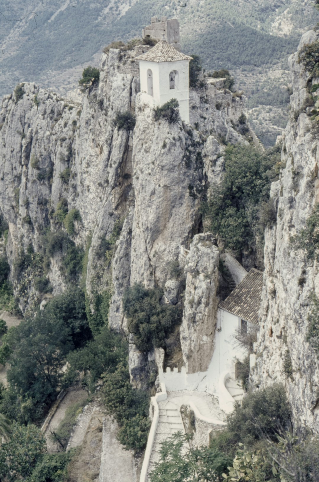
<svg viewBox="0 0 319 482"><path fill-rule="evenodd" d="M182 123L153 121L150 107L137 99L134 130L133 188L135 209L131 282L163 286L170 262L178 258L199 222L199 196L189 186L202 188L203 173L184 158L189 134ZM193 134L196 143L198 134Z"/></svg>

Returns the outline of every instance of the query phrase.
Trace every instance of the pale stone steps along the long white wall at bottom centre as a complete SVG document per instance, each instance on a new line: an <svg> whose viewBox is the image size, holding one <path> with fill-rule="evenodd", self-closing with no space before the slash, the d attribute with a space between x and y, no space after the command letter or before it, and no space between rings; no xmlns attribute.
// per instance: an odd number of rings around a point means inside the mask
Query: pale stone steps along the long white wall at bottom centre
<svg viewBox="0 0 319 482"><path fill-rule="evenodd" d="M155 462L159 462L161 442L164 442L176 432L185 433L185 428L178 405L170 400L159 402L159 423L149 461L147 471L148 474L155 468Z"/></svg>

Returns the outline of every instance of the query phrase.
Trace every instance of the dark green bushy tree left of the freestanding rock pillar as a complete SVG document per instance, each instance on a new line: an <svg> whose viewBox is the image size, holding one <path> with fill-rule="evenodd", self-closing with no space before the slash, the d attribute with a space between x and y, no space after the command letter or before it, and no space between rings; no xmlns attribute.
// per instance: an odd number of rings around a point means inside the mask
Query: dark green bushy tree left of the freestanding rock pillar
<svg viewBox="0 0 319 482"><path fill-rule="evenodd" d="M165 337L179 323L180 308L161 304L163 291L160 288L146 290L134 284L123 296L123 309L128 318L129 332L140 351L165 346Z"/></svg>

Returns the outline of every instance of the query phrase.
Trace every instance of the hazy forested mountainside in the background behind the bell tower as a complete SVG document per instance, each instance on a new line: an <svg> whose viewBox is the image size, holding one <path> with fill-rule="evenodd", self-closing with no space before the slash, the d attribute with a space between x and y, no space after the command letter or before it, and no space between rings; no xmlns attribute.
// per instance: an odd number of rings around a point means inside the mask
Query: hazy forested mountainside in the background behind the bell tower
<svg viewBox="0 0 319 482"><path fill-rule="evenodd" d="M186 53L199 54L207 69L255 70L256 85L269 66L286 58L316 13L304 0L0 0L0 94L18 82L65 89L78 71L112 40L141 35L152 15L176 16ZM282 65L281 65L282 64ZM267 68L265 66L268 66ZM250 86L246 89L249 93ZM256 101L254 101L256 103Z"/></svg>

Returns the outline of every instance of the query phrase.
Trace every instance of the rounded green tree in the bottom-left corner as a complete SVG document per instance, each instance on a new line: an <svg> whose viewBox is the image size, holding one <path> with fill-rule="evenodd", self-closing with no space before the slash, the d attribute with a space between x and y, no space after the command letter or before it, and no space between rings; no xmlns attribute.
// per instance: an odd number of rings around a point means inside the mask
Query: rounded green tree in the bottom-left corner
<svg viewBox="0 0 319 482"><path fill-rule="evenodd" d="M39 428L13 422L10 440L2 444L0 451L2 470L9 480L25 480L46 452L46 442Z"/></svg>

